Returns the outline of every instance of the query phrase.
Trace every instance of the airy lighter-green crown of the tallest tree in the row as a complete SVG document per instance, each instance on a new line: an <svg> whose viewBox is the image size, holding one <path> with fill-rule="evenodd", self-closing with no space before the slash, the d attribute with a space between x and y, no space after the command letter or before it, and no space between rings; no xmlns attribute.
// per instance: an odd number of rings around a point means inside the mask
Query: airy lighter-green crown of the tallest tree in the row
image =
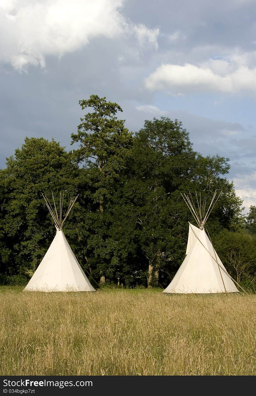
<svg viewBox="0 0 256 396"><path fill-rule="evenodd" d="M83 110L91 107L94 112L88 112L81 118L77 133L71 135L71 144L79 143L80 148L74 151L76 161L92 169L92 177L97 179L94 199L103 212L108 183L113 183L126 167L132 133L124 127L124 120L117 119L117 112L122 112L117 103L91 95L87 100L80 100L79 104Z"/></svg>

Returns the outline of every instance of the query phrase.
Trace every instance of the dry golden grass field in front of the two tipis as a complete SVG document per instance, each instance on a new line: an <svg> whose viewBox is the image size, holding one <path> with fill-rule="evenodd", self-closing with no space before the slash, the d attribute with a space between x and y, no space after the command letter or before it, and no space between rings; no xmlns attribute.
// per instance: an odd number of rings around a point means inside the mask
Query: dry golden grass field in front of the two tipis
<svg viewBox="0 0 256 396"><path fill-rule="evenodd" d="M0 288L0 375L256 375L256 295Z"/></svg>

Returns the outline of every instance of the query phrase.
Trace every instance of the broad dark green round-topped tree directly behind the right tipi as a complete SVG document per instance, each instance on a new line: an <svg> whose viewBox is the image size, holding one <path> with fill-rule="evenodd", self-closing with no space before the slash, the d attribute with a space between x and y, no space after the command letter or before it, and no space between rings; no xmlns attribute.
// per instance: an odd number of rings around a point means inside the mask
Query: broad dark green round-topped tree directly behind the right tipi
<svg viewBox="0 0 256 396"><path fill-rule="evenodd" d="M140 244L148 265L148 284L157 285L159 270L160 283L165 283L183 261L187 221L194 222L181 192L201 191L211 202L215 189L223 190L208 222L215 232L235 227L241 200L232 183L223 177L230 167L228 158L203 157L194 152L188 132L178 120L146 120L135 135L133 164L140 196Z"/></svg>

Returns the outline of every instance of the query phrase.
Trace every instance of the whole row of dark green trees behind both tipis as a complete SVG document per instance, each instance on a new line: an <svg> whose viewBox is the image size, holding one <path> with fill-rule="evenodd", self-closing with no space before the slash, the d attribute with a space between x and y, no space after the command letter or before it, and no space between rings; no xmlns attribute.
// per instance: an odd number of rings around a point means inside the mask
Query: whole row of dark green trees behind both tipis
<svg viewBox="0 0 256 396"><path fill-rule="evenodd" d="M209 205L214 191L222 190L207 222L209 233L217 238L229 232L231 239L241 234L242 201L224 177L228 158L195 152L178 120L146 120L132 135L117 118L117 103L97 95L79 103L92 112L72 134L78 149L66 152L54 140L26 138L0 170L2 282L25 282L51 244L55 228L41 192L50 198L53 190L57 204L60 191L66 204L79 194L64 233L93 286L103 276L119 286L168 285L184 259L188 221L194 223L181 192L193 198L201 192ZM254 271L252 262L241 282L253 280Z"/></svg>

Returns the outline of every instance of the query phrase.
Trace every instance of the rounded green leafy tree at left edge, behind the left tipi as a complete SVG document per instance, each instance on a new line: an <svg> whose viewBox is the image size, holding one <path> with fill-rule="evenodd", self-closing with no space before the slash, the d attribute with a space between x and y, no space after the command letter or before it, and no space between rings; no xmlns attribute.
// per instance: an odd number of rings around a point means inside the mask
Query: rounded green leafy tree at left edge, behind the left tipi
<svg viewBox="0 0 256 396"><path fill-rule="evenodd" d="M2 274L36 269L55 232L41 192L77 194L78 172L71 153L54 140L26 137L7 159L6 168L0 170Z"/></svg>

